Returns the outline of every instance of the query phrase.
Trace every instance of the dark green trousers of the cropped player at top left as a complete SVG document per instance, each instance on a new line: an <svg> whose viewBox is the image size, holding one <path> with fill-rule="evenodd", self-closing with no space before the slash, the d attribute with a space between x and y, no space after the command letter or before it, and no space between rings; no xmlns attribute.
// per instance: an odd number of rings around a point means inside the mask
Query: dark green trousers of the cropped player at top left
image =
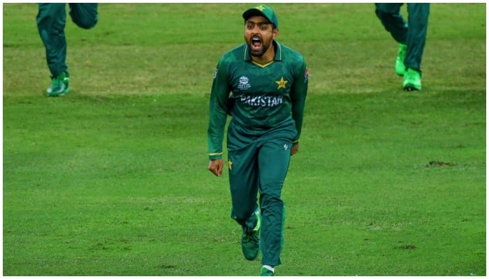
<svg viewBox="0 0 489 279"><path fill-rule="evenodd" d="M68 74L66 65L66 3L39 3L37 27L46 50L46 61L51 75ZM98 21L97 3L69 3L71 20L83 29L90 29Z"/></svg>

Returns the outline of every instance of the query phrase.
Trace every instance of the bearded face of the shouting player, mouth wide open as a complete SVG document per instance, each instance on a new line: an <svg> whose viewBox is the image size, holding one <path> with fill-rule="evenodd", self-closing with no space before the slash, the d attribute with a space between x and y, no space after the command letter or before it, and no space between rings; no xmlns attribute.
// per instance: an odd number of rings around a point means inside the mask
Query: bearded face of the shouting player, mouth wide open
<svg viewBox="0 0 489 279"><path fill-rule="evenodd" d="M253 16L245 22L245 40L252 56L261 57L267 52L272 40L277 36L279 29L265 17Z"/></svg>

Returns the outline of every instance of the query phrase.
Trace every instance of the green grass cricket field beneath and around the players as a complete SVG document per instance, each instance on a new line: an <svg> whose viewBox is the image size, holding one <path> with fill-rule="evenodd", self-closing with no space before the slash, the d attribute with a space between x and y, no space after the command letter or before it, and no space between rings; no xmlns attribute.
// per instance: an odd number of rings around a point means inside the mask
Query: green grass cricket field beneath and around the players
<svg viewBox="0 0 489 279"><path fill-rule="evenodd" d="M3 276L256 276L207 171L250 4L102 3L45 97L35 3L3 3ZM368 3L275 3L309 66L280 276L486 276L486 3L434 3L423 91ZM405 7L403 8L403 13Z"/></svg>

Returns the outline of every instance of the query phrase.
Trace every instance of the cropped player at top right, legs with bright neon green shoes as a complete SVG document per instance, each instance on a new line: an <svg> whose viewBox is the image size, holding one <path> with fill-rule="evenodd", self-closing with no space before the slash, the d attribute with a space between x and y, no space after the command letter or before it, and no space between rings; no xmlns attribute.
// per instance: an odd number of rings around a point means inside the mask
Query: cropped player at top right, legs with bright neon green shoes
<svg viewBox="0 0 489 279"><path fill-rule="evenodd" d="M400 13L402 3L375 3L375 14L399 43L395 73L404 76L402 88L421 90L421 59L428 30L430 3L407 3L408 21Z"/></svg>

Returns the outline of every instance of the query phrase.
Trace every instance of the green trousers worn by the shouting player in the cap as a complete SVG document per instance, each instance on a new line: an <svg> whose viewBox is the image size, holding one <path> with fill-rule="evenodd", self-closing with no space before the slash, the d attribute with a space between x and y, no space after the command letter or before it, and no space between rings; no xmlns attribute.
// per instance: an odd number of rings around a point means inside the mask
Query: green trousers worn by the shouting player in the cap
<svg viewBox="0 0 489 279"><path fill-rule="evenodd" d="M243 232L256 226L254 211L261 209L262 264L281 264L284 243L285 207L282 187L289 169L293 138L292 119L270 130L247 130L235 121L228 127L228 170L231 189L231 218Z"/></svg>

